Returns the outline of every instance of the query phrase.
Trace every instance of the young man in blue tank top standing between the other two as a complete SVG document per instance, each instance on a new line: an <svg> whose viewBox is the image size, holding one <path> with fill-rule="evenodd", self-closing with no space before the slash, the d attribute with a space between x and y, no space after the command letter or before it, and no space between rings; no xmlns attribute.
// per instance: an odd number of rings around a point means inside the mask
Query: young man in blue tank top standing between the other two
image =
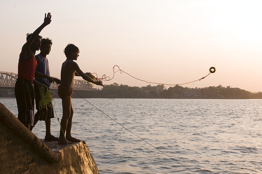
<svg viewBox="0 0 262 174"><path fill-rule="evenodd" d="M40 53L35 55L35 58L37 61L35 80L46 85L48 88L51 85L50 82L55 81L57 84L60 84L59 79L50 77L48 59L46 58L46 56L51 51L52 44L53 43L51 39L49 38L42 39ZM58 138L54 137L51 134L51 118L54 118L54 110L53 110L52 104L51 106L47 105L44 108L39 107L40 106L39 103L41 100L40 90L39 90L39 87L36 85L34 85L34 88L35 88L35 104L36 104L36 109L37 109L37 112L35 114L34 126L36 125L38 120L40 121L44 120L46 124L45 141L55 141L55 140L57 141ZM34 126L31 126L30 128L31 131Z"/></svg>

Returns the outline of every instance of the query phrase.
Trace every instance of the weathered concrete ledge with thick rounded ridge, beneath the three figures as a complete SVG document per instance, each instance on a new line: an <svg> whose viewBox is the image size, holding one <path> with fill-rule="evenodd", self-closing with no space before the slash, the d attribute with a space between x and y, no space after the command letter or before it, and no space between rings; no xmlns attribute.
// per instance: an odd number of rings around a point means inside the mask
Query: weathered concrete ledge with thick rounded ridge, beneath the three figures
<svg viewBox="0 0 262 174"><path fill-rule="evenodd" d="M45 143L0 103L0 174L99 174L85 142Z"/></svg>

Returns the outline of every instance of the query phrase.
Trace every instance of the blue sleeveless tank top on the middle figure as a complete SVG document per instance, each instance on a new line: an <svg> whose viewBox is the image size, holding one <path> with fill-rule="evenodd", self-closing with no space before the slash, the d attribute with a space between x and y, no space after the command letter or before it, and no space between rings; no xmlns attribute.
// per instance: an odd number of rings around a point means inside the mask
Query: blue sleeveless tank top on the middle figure
<svg viewBox="0 0 262 174"><path fill-rule="evenodd" d="M40 54L37 54L37 56L39 57L39 64L36 67L36 71L50 76L48 60L45 60ZM46 85L48 88L50 87L50 83L46 78L35 77L35 80Z"/></svg>

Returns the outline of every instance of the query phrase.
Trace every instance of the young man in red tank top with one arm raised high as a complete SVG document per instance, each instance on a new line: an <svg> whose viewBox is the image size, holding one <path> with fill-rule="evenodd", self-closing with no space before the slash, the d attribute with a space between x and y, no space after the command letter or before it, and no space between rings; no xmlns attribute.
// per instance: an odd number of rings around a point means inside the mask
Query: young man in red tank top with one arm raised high
<svg viewBox="0 0 262 174"><path fill-rule="evenodd" d="M19 55L18 62L18 78L15 82L15 98L18 107L18 119L30 129L30 125L34 122L34 100L35 91L33 83L38 86L43 86L42 83L34 80L36 59L35 52L40 49L41 36L39 33L42 29L51 23L51 14L45 14L43 24L38 27L32 34L26 38L26 43L23 45Z"/></svg>

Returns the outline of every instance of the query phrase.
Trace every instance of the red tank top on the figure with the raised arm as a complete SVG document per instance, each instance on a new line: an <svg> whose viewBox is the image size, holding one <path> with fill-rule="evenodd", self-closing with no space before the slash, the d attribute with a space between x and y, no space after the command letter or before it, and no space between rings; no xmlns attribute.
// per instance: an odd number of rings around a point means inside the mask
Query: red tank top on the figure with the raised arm
<svg viewBox="0 0 262 174"><path fill-rule="evenodd" d="M37 66L37 61L34 56L28 60L22 60L18 62L18 78L25 78L32 83L35 77L35 67Z"/></svg>

